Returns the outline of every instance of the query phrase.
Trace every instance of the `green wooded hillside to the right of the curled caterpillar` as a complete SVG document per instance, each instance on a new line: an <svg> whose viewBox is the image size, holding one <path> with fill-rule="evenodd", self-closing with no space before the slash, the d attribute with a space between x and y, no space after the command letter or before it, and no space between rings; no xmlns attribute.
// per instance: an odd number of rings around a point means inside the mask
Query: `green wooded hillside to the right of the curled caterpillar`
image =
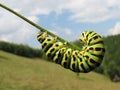
<svg viewBox="0 0 120 90"><path fill-rule="evenodd" d="M112 80L117 75L120 77L120 35L104 38L106 54L101 67L104 74Z"/></svg>

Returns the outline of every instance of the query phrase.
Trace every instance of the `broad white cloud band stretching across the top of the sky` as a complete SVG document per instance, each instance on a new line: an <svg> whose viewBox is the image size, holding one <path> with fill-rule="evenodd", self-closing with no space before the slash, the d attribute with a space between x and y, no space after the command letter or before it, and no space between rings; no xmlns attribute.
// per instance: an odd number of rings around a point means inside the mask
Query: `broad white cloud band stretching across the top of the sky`
<svg viewBox="0 0 120 90"><path fill-rule="evenodd" d="M40 15L68 10L68 16L76 22L101 22L120 16L120 0L2 0L11 8L18 9L24 15Z"/></svg>

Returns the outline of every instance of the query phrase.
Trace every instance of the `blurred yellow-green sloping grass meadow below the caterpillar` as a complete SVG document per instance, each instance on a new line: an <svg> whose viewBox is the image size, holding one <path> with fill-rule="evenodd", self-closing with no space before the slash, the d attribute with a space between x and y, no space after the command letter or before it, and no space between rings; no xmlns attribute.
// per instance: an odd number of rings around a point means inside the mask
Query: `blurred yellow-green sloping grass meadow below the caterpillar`
<svg viewBox="0 0 120 90"><path fill-rule="evenodd" d="M120 83L94 72L77 76L54 63L0 51L0 90L120 90Z"/></svg>

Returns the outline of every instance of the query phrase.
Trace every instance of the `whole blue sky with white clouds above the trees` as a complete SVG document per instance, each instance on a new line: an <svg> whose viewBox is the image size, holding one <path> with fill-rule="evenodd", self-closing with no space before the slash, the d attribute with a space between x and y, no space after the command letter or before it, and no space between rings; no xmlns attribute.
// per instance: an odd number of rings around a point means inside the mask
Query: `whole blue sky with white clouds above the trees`
<svg viewBox="0 0 120 90"><path fill-rule="evenodd" d="M48 31L74 41L93 30L120 34L120 0L0 0ZM0 40L40 48L38 29L0 7Z"/></svg>

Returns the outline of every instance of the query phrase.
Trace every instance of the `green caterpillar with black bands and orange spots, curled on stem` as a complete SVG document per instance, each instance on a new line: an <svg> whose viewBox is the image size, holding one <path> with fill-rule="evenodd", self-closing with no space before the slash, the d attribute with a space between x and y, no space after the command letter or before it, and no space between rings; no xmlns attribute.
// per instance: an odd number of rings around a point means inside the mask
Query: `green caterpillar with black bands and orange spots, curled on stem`
<svg viewBox="0 0 120 90"><path fill-rule="evenodd" d="M81 33L79 40L84 44L81 51L72 49L67 42L60 42L47 32L39 32L37 40L50 60L74 72L90 72L101 64L105 54L103 39L94 31Z"/></svg>

